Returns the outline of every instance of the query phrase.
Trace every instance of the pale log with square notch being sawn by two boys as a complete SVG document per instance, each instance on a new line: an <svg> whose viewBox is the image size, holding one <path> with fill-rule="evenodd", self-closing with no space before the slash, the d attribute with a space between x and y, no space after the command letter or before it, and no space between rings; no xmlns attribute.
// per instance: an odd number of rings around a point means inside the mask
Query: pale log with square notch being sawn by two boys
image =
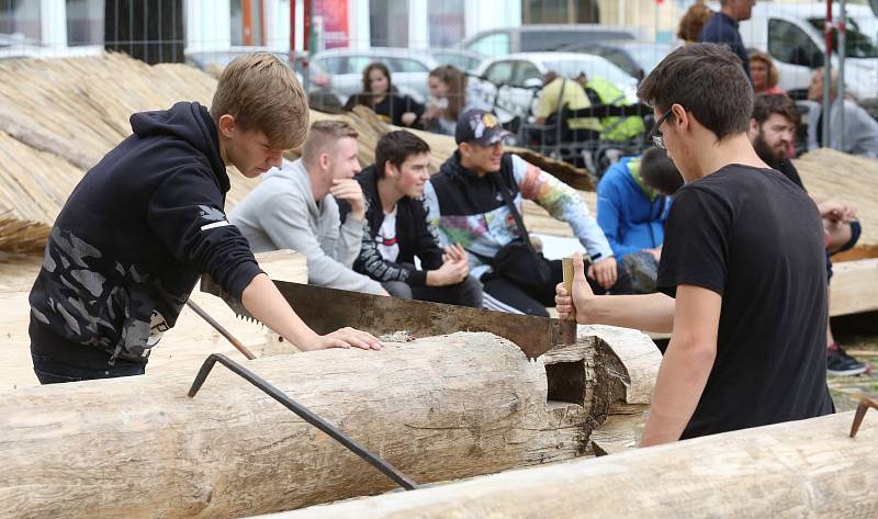
<svg viewBox="0 0 878 519"><path fill-rule="evenodd" d="M614 409L642 411L654 346L629 330L589 334L538 362L496 336L454 334L246 365L427 483L572 459ZM394 487L222 366L188 398L194 374L2 398L0 517L243 517Z"/></svg>

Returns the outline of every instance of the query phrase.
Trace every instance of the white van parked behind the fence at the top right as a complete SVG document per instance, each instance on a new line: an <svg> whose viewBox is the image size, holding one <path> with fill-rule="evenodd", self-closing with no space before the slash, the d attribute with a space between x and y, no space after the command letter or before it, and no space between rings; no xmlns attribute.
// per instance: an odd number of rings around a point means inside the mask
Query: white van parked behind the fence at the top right
<svg viewBox="0 0 878 519"><path fill-rule="evenodd" d="M860 101L878 98L878 18L867 5L847 5L846 11L845 92ZM833 12L837 15L837 2ZM739 30L744 46L774 58L780 88L798 97L804 92L792 91L807 90L811 71L823 66L825 19L825 2L757 2L753 16L741 22ZM837 52L837 42L833 48ZM835 57L832 65L838 66Z"/></svg>

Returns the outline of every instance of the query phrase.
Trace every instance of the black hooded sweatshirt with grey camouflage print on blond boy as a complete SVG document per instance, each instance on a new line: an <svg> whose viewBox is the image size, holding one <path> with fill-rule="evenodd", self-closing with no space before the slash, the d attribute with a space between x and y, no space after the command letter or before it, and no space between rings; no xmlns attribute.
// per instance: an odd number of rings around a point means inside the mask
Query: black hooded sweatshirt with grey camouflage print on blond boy
<svg viewBox="0 0 878 519"><path fill-rule="evenodd" d="M67 200L30 296L38 326L111 363L146 362L201 273L240 297L261 272L226 221L229 179L207 110L181 102L131 126Z"/></svg>

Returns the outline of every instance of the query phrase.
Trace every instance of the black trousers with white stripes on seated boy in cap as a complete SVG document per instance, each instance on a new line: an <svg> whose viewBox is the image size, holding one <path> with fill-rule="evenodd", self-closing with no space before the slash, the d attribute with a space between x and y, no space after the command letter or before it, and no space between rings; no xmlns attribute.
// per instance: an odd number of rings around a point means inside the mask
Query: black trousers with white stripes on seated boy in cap
<svg viewBox="0 0 878 519"><path fill-rule="evenodd" d="M586 261L586 270L588 269L588 261ZM550 260L549 266L552 269L553 282L536 292L526 291L494 272L483 274L482 284L485 291L485 308L549 317L549 312L545 311L545 307L555 305L555 285L561 283L564 279L561 260ZM586 279L588 285L592 286L592 290L598 295L608 292L614 294L633 293L631 278L628 277L628 272L621 261L616 262L616 284L610 286L609 290L604 290L604 287L598 285L597 282L590 278Z"/></svg>

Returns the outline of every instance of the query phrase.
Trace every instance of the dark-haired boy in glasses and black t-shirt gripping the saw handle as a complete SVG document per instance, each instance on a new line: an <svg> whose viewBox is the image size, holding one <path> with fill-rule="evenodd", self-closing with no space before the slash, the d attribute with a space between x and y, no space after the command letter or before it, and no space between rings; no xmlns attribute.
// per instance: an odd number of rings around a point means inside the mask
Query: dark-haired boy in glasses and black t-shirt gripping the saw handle
<svg viewBox="0 0 878 519"><path fill-rule="evenodd" d="M559 314L672 331L641 445L833 413L823 227L804 191L754 151L753 90L738 58L717 45L679 48L638 94L655 111L653 143L686 180L660 293L594 296L576 261Z"/></svg>

